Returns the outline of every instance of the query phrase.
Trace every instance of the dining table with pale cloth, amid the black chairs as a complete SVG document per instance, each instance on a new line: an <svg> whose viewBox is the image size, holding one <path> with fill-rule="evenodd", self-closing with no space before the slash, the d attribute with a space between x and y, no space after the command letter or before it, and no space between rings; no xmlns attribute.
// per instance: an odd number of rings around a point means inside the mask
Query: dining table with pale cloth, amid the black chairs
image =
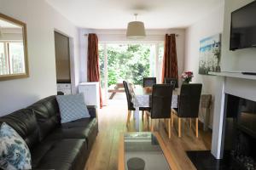
<svg viewBox="0 0 256 170"><path fill-rule="evenodd" d="M177 108L177 96L179 94L179 89L174 89L172 92L172 108ZM152 88L143 88L141 86L136 86L133 88L133 105L135 108L134 117L135 117L135 129L137 132L140 131L140 121L139 121L139 108L148 108L149 107L149 98L152 94ZM171 115L171 113L170 113Z"/></svg>

